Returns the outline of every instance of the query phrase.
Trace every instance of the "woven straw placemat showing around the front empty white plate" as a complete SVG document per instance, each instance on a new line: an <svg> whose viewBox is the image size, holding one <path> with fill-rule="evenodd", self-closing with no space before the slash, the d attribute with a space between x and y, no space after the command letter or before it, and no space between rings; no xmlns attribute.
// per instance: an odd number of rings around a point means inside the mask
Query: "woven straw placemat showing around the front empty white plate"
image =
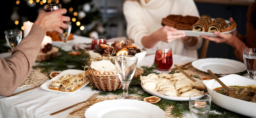
<svg viewBox="0 0 256 118"><path fill-rule="evenodd" d="M112 96L112 97L109 97L109 96L106 96L106 97L104 97L104 96L99 96L100 101L113 100L113 99L117 99L117 97L119 97L119 96L117 96L117 95ZM140 96L136 96L135 99L136 99L136 100L142 100ZM79 109L79 108L81 108L81 107L83 107L83 106L85 106L85 105L89 105L89 102L82 103L82 104L78 105L77 108L73 109L72 111L75 111L76 109ZM84 114L85 114L85 112L86 112L86 109L89 108L89 107L90 107L90 106L87 106L87 107L85 107L85 108L83 108L83 109L81 109L81 110L75 112L74 114L69 115L68 118L85 118ZM173 107L167 107L167 108L166 108L166 110L164 111L164 113L165 113L165 118L171 118L171 115L170 115L170 114L171 114L171 109L172 109L172 108L173 108ZM71 112L72 112L72 111L71 111Z"/></svg>

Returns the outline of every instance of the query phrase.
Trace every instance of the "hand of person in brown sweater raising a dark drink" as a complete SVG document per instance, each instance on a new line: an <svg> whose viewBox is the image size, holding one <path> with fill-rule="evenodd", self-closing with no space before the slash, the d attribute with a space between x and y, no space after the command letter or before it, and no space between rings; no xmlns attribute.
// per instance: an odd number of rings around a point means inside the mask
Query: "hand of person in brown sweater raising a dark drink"
<svg viewBox="0 0 256 118"><path fill-rule="evenodd" d="M52 12L45 12L43 10L39 11L36 21L34 24L41 26L46 32L56 31L58 33L62 33L63 29L67 29L68 25L63 22L70 21L70 17L63 16L66 14L66 9L58 9Z"/></svg>

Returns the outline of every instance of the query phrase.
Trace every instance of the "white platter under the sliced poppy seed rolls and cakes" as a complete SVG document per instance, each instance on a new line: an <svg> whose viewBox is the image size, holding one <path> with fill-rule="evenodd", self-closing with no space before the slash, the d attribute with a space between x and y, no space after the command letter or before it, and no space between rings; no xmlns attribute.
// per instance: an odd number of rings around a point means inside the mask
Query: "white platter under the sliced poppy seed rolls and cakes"
<svg viewBox="0 0 256 118"><path fill-rule="evenodd" d="M212 18L212 21L215 18ZM229 23L230 21L225 20L226 23ZM229 31L225 31L225 32L221 32L221 33L230 33L232 31L234 31L236 28L229 30ZM196 37L200 37L201 35L205 35L205 36L212 36L212 37L217 37L216 35L213 34L213 32L205 32L205 31L191 31L191 30L178 30L178 31L183 31L185 32L186 36L196 36Z"/></svg>

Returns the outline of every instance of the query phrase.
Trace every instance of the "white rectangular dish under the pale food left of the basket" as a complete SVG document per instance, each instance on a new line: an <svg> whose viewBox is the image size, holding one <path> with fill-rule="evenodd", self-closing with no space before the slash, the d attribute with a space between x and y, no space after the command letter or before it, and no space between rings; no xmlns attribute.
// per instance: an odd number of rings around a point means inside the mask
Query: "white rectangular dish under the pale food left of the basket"
<svg viewBox="0 0 256 118"><path fill-rule="evenodd" d="M60 90L53 90L53 89L50 89L49 88L49 85L53 82L53 81L56 81L56 80L59 80L59 78L63 75L67 75L67 74L72 74L72 75L75 75L75 74L78 74L78 73L82 73L84 70L77 70L77 69L67 69L67 70L64 70L62 71L60 74L58 74L57 76L53 77L53 79L50 79L49 81L47 81L46 83L42 84L40 86L40 88L44 89L44 90L47 90L47 91L50 91L50 92L56 92L56 93L66 93L66 94L71 94L71 93L74 93L74 92L77 92L78 90L80 90L81 88L83 88L84 86L88 85L89 84L89 79L88 81L86 81L79 89L76 89L72 92L64 92L64 91L60 91Z"/></svg>

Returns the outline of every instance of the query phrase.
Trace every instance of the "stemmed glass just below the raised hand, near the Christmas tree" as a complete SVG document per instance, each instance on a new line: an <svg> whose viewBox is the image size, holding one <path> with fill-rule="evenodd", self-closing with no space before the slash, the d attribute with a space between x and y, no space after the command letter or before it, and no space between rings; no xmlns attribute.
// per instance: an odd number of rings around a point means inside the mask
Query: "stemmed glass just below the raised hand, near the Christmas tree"
<svg viewBox="0 0 256 118"><path fill-rule="evenodd" d="M68 51L70 49L67 47L66 43L67 43L69 34L71 32L72 25L71 25L71 21L65 22L65 24L68 25L68 28L67 29L62 29L63 33L60 34L62 41L64 41L64 44L62 45L61 49L65 50L65 51Z"/></svg>

